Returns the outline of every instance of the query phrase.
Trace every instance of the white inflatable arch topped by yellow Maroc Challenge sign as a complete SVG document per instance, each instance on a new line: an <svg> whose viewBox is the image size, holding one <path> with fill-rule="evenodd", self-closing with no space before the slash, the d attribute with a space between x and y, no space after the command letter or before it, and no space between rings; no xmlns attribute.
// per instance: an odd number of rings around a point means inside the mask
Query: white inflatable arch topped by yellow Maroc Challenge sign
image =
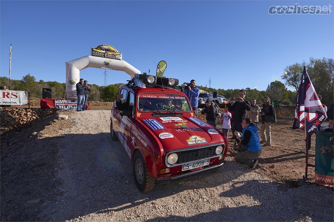
<svg viewBox="0 0 334 222"><path fill-rule="evenodd" d="M66 65L66 98L77 99L76 83L80 79L80 70L94 67L101 69L112 69L124 71L131 78L140 71L122 60L122 53L110 45L99 45L92 48L92 55L84 56L65 63Z"/></svg>

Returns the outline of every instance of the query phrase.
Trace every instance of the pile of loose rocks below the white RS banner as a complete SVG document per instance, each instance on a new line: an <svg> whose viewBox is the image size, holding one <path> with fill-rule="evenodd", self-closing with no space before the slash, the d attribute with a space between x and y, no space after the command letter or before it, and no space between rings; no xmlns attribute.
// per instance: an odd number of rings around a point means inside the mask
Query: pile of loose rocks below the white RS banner
<svg viewBox="0 0 334 222"><path fill-rule="evenodd" d="M6 107L0 109L0 126L31 125L34 121L39 121L41 117L51 116L56 109L29 109L18 107Z"/></svg>

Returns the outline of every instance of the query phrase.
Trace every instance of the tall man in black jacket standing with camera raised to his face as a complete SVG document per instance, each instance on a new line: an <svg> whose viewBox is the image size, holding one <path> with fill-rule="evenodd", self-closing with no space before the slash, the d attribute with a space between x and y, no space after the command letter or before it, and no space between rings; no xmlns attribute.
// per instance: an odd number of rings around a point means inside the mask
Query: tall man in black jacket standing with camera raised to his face
<svg viewBox="0 0 334 222"><path fill-rule="evenodd" d="M245 100L245 96L246 96L246 91L241 89L239 92L239 98L235 99L237 101L232 105L231 103L233 99L231 98L227 104L228 111L234 110L232 119L233 134L234 131L242 132L242 126L241 126L242 120L247 117L247 111L251 110L251 104L247 100Z"/></svg>

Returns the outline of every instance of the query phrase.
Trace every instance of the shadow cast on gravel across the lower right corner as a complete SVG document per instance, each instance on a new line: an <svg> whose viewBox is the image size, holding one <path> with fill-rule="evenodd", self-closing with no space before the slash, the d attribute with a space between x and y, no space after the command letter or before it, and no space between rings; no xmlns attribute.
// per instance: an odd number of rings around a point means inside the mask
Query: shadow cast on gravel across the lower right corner
<svg viewBox="0 0 334 222"><path fill-rule="evenodd" d="M328 215L328 221L333 218L333 212L329 214L326 207L333 205L333 195L329 189L330 195L314 199L305 195L308 191L315 192L317 188L314 186L308 186L304 190L278 191L275 187L279 186L281 184L268 180L233 182L230 189L220 193L219 197L231 198L231 202L237 205L235 207L227 203L226 206L210 212L200 212L201 209L198 209L198 214L190 217L171 215L148 221L319 221L324 215ZM248 196L248 202L244 202L244 196ZM286 198L287 196L289 198Z"/></svg>

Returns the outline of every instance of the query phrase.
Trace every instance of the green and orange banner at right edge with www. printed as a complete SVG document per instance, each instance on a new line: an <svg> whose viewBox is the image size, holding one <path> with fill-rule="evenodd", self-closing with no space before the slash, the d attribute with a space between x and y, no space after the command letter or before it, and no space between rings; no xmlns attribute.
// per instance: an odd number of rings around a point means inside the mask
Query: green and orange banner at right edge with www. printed
<svg viewBox="0 0 334 222"><path fill-rule="evenodd" d="M315 177L317 183L334 186L334 137L329 132L316 132Z"/></svg>

